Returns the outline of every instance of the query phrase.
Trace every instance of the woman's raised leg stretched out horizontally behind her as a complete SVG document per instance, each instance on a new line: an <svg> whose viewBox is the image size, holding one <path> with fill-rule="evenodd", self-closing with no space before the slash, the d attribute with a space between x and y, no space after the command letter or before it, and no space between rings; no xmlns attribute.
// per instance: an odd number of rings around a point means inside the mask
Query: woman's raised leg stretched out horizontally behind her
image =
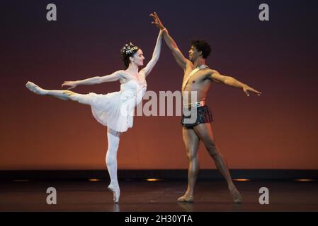
<svg viewBox="0 0 318 226"><path fill-rule="evenodd" d="M40 86L35 85L35 83L31 83L31 82L26 83L25 86L31 92L38 95L50 95L52 97L57 97L61 100L73 100L83 105L91 104L89 95L74 93L69 90L45 90L40 88Z"/></svg>

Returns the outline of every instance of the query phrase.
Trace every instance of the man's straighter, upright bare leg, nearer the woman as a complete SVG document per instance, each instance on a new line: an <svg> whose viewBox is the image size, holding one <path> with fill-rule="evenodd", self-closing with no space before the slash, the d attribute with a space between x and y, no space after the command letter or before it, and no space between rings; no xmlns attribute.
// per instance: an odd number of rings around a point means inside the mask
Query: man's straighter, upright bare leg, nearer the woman
<svg viewBox="0 0 318 226"><path fill-rule="evenodd" d="M198 177L199 162L198 162L198 145L199 138L193 129L182 128L183 142L186 146L186 155L188 157L188 188L186 193L178 198L181 202L193 201L193 190L196 179Z"/></svg>

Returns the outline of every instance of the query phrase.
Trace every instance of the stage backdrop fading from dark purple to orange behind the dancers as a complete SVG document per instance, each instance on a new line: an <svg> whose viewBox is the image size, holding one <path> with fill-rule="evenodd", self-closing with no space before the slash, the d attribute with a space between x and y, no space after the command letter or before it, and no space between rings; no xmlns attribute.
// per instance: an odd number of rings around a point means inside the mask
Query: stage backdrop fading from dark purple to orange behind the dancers
<svg viewBox="0 0 318 226"><path fill-rule="evenodd" d="M47 4L57 21L46 20ZM259 20L259 5L270 21ZM106 169L106 127L76 102L41 97L33 81L63 81L123 69L119 50L133 42L146 61L157 11L188 56L192 38L212 45L208 65L260 90L214 84L208 95L220 150L231 169L318 169L317 1L4 1L1 0L0 169ZM146 62L147 63L147 62ZM180 90L183 71L163 44L148 90ZM110 93L119 83L79 86ZM186 169L180 117L135 117L120 142L120 169ZM215 168L203 145L200 167Z"/></svg>

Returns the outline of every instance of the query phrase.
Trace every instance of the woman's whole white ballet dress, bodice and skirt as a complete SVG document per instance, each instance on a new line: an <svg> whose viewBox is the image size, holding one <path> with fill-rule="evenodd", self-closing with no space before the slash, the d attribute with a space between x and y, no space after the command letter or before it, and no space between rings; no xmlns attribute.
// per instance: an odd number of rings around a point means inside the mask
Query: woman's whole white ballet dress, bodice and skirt
<svg viewBox="0 0 318 226"><path fill-rule="evenodd" d="M147 83L131 79L120 85L120 91L106 95L89 93L93 117L108 128L125 132L133 125L135 107L146 93Z"/></svg>

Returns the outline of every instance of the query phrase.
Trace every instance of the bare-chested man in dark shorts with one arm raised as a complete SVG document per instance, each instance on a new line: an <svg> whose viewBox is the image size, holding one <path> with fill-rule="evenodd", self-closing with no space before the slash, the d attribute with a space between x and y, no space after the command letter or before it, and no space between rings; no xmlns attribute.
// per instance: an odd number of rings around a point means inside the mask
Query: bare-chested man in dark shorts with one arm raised
<svg viewBox="0 0 318 226"><path fill-rule="evenodd" d="M215 161L217 169L227 181L229 191L232 195L234 203L242 203L242 195L234 185L227 163L220 153L219 148L215 143L213 136L212 125L212 114L210 108L206 105L206 95L212 82L223 83L236 88L242 88L242 90L249 96L249 91L261 95L261 93L254 88L249 87L244 83L237 81L235 78L230 76L223 76L215 70L209 69L205 64L205 59L211 52L210 44L203 40L195 40L191 43L191 49L189 50L189 59L183 56L180 49L176 45L176 42L169 35L168 30L164 28L157 13L150 14L154 21L152 22L160 30L164 31L164 40L168 47L171 49L174 58L179 66L184 70L182 92L183 99L186 97L188 100L186 103L183 100L183 118L181 124L183 125L183 142L186 145L186 154L188 157L188 189L186 193L178 198L181 202L193 202L193 190L195 182L198 176L198 143L203 141L205 148L208 150L209 155ZM184 94L189 93L188 96ZM197 101L193 102L191 93L193 91L197 95ZM196 111L196 120L189 123L187 120L189 117L184 116L185 110L193 109ZM191 113L191 114L192 114Z"/></svg>

